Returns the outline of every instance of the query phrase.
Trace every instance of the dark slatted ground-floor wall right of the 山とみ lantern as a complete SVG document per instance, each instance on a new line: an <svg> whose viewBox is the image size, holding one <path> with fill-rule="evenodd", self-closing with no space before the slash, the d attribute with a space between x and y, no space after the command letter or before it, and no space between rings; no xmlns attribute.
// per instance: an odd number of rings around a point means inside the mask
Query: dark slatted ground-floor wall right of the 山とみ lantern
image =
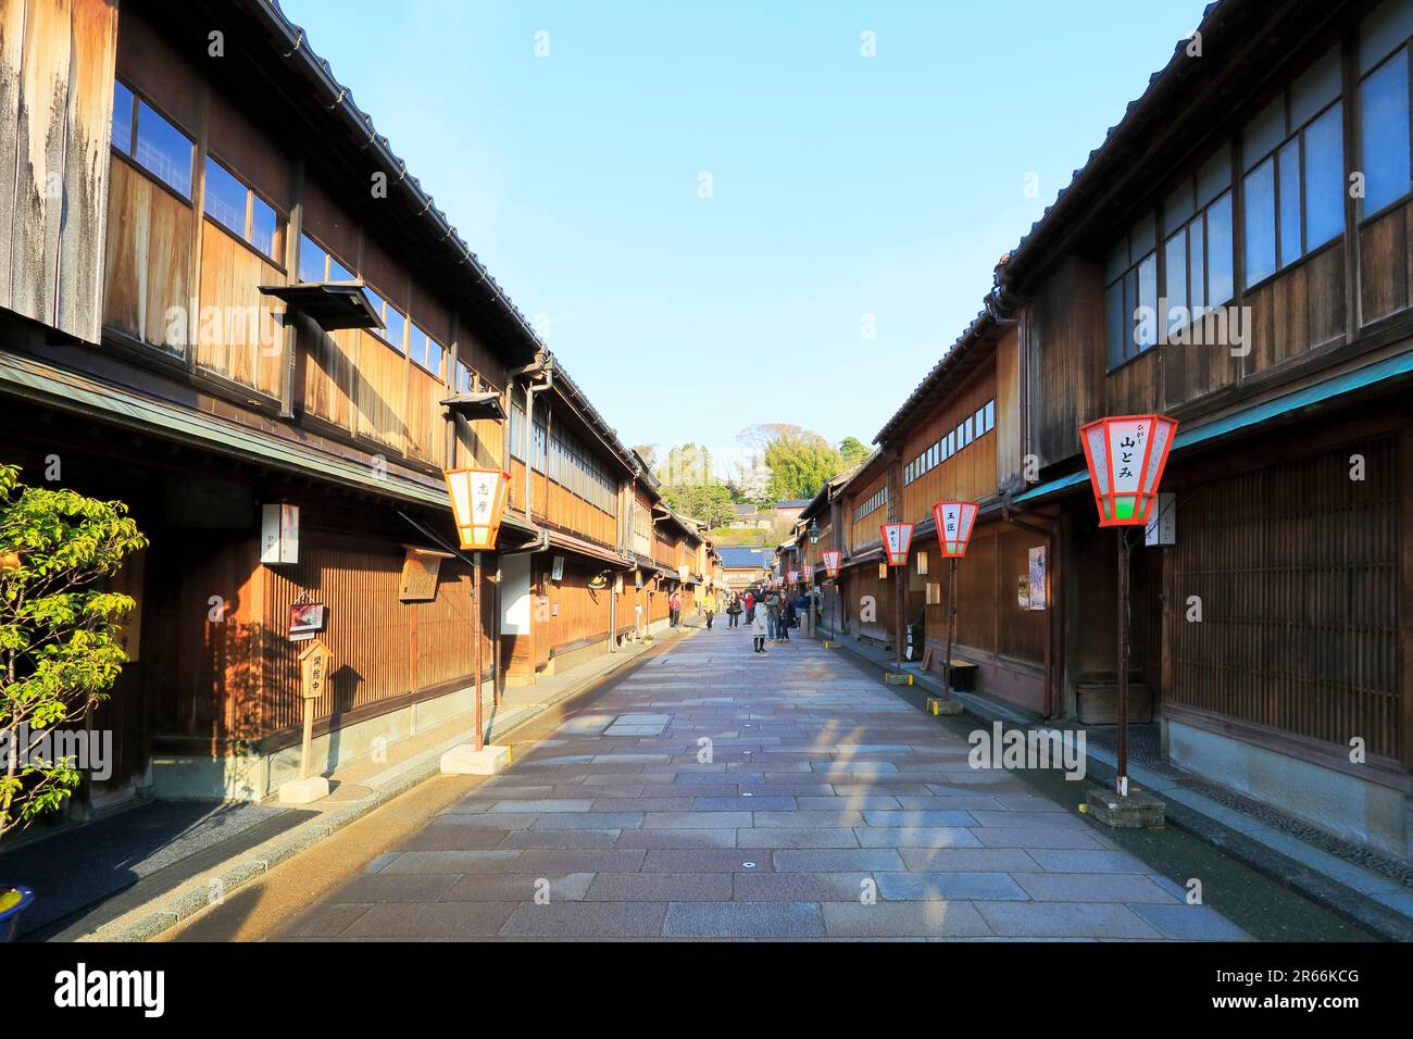
<svg viewBox="0 0 1413 1039"><path fill-rule="evenodd" d="M1400 758L1399 540L1409 479L1392 437L1366 479L1335 448L1181 489L1166 612L1176 704ZM1400 526L1402 524L1402 526ZM1201 597L1201 623L1186 619Z"/></svg>

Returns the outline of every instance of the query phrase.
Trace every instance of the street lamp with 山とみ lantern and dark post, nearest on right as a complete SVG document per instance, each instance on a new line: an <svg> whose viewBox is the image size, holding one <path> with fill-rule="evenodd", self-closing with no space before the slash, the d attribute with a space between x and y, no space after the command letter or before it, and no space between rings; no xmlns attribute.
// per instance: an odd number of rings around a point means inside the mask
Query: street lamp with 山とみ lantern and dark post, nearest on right
<svg viewBox="0 0 1413 1039"><path fill-rule="evenodd" d="M1118 527L1118 792L1129 796L1129 543L1128 527L1147 523L1177 421L1159 414L1099 418L1080 427L1101 527Z"/></svg>

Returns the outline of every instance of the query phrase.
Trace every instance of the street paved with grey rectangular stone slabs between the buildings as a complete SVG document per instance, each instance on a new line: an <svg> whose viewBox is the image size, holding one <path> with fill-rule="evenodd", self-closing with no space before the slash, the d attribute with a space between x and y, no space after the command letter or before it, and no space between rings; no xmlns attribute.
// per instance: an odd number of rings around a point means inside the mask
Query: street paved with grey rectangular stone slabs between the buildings
<svg viewBox="0 0 1413 1039"><path fill-rule="evenodd" d="M284 937L1245 937L966 751L844 653L697 630Z"/></svg>

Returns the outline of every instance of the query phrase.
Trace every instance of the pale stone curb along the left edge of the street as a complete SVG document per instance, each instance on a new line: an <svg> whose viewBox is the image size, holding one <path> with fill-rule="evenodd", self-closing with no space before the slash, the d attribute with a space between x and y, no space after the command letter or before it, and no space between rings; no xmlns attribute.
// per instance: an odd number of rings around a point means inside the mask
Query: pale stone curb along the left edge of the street
<svg viewBox="0 0 1413 1039"><path fill-rule="evenodd" d="M682 636L677 638L680 639ZM671 646L675 642L677 639L673 639L671 642L660 640L657 645ZM545 700L538 704L536 710L516 720L510 728L497 734L496 738L503 739L526 725L528 721L544 714L551 707L561 704L569 697L575 697L592 688L609 676L616 674L634 663L646 662L653 656L656 656L656 653L653 653L653 647L650 646L642 653L634 653L633 656L623 659L615 667L599 671L592 677L585 676L584 681L571 684L552 700ZM379 786L366 797L362 797L342 809L332 809L321 813L317 818L311 818L309 821L302 823L278 837L270 838L264 844L247 852L244 857L230 859L212 871L206 871L199 879L187 881L174 891L164 892L162 895L151 899L146 906L130 909L123 916L103 924L93 933L76 939L76 941L148 941L162 932L177 926L182 920L195 916L202 909L206 909L211 905L211 896L208 892L213 879L220 882L223 896L230 895L232 891L261 876L280 862L292 858L314 844L318 844L350 823L357 821L363 816L373 811L373 809L382 807L394 797L407 793L414 786L441 775L439 762L439 745L424 751L410 761L408 768L406 768L396 777L390 779L387 783Z"/></svg>

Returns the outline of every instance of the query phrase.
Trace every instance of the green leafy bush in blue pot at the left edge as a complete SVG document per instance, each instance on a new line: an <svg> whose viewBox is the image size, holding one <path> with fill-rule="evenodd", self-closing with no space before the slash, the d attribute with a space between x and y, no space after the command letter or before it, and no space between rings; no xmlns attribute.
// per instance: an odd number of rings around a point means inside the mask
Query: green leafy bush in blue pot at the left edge
<svg viewBox="0 0 1413 1039"><path fill-rule="evenodd" d="M103 582L146 544L122 502L25 486L18 466L0 465L0 841L82 779L73 758L44 756L45 736L106 700L127 662L134 604ZM32 900L0 878L0 940Z"/></svg>

